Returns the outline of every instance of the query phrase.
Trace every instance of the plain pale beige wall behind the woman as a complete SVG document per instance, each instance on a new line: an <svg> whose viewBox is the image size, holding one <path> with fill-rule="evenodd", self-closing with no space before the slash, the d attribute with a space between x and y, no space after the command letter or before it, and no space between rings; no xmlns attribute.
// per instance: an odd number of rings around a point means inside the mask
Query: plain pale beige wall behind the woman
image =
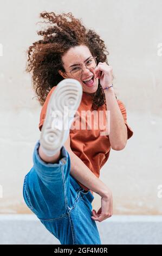
<svg viewBox="0 0 162 256"><path fill-rule="evenodd" d="M114 214L161 214L162 198L162 2L1 1L0 56L1 135L0 213L30 212L23 202L24 175L33 166L40 136L41 107L25 74L25 51L40 36L43 10L71 11L105 40L118 98L125 103L134 135L122 151L112 150L100 178L113 191ZM162 46L161 46L162 48ZM159 49L159 52L158 52ZM2 49L1 49L2 50ZM0 50L0 55L1 54ZM100 207L95 194L93 205Z"/></svg>

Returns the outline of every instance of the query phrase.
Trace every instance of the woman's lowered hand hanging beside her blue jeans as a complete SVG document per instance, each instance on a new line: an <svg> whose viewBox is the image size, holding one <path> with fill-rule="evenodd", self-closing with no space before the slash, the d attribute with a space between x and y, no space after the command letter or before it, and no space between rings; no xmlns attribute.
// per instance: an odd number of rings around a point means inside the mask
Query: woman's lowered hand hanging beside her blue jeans
<svg viewBox="0 0 162 256"><path fill-rule="evenodd" d="M96 212L96 210L92 210L93 216L91 218L94 221L104 221L106 218L109 218L113 215L113 197L112 192L109 190L104 196L101 198L101 208Z"/></svg>

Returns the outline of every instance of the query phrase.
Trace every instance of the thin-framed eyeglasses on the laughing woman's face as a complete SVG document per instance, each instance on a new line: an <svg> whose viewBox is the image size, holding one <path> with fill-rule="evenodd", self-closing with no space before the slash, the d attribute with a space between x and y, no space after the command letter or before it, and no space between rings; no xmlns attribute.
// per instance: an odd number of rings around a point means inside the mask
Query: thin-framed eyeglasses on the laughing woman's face
<svg viewBox="0 0 162 256"><path fill-rule="evenodd" d="M96 57L90 58L87 60L85 65L82 65L82 68L80 66L75 66L75 68L73 68L70 72L66 72L66 73L70 73L74 78L78 78L78 77L81 77L82 75L83 66L86 66L86 68L89 70L93 70L96 68L96 65L97 65Z"/></svg>

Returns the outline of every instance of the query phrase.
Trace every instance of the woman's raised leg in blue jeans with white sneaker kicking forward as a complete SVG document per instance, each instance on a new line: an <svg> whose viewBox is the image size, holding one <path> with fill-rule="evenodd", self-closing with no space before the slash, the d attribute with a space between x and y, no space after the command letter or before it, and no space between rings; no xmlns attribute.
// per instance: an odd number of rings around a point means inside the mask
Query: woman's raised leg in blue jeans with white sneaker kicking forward
<svg viewBox="0 0 162 256"><path fill-rule="evenodd" d="M34 166L25 176L23 189L25 202L38 218L58 218L66 213L70 157L63 144L81 97L81 84L73 79L61 81L50 96L41 138L34 149ZM72 111L70 117L69 113L65 116L64 107ZM68 129L62 127L66 121Z"/></svg>

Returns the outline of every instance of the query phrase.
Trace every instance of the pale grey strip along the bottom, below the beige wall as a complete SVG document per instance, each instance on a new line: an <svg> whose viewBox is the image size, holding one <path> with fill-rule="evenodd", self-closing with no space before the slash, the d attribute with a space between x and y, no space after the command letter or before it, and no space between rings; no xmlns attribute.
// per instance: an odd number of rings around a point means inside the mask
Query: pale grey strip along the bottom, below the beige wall
<svg viewBox="0 0 162 256"><path fill-rule="evenodd" d="M114 215L98 225L103 245L162 244L162 216ZM35 215L0 215L1 245L60 245Z"/></svg>

